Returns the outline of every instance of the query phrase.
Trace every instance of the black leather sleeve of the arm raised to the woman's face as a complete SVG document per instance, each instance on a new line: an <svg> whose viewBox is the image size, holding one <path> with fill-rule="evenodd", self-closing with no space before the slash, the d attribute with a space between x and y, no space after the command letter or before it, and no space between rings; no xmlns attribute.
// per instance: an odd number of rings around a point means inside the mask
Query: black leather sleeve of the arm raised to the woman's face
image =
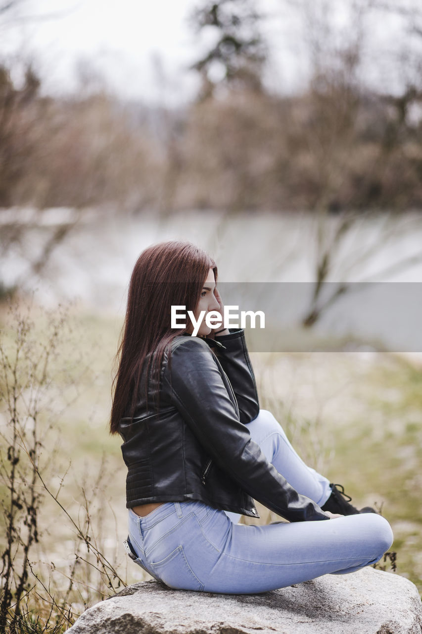
<svg viewBox="0 0 422 634"><path fill-rule="evenodd" d="M240 422L250 423L259 414L259 399L255 374L246 347L245 330L230 328L228 335L220 335L216 340L224 346L217 347L215 354L233 387Z"/></svg>

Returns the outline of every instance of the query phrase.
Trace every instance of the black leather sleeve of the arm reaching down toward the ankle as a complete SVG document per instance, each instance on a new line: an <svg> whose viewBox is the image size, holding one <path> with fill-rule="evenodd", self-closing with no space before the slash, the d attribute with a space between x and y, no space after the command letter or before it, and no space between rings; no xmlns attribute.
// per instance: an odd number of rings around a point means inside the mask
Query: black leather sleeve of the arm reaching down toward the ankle
<svg viewBox="0 0 422 634"><path fill-rule="evenodd" d="M215 463L255 500L290 522L328 519L321 508L297 493L267 461L240 422L221 368L206 342L187 337L163 371L166 399Z"/></svg>

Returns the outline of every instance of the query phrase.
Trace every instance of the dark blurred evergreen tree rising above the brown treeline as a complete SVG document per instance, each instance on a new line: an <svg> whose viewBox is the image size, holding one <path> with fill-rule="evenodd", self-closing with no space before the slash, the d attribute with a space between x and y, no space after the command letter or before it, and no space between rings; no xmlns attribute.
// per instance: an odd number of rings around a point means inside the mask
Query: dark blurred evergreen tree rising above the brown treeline
<svg viewBox="0 0 422 634"><path fill-rule="evenodd" d="M214 40L189 67L201 76L198 100L212 96L217 84L263 90L267 46L259 31L262 17L252 0L207 0L193 10L188 18L193 30L207 30Z"/></svg>

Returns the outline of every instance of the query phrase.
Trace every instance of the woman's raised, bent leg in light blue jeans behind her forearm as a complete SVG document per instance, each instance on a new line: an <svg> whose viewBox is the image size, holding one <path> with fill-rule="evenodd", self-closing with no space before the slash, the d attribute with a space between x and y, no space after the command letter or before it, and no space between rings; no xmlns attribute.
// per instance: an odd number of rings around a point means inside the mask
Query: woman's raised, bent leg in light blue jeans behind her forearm
<svg viewBox="0 0 422 634"><path fill-rule="evenodd" d="M271 462L294 489L322 506L331 495L329 480L305 465L291 446L288 438L271 411L259 410L259 414L246 424L255 443L259 444L268 462ZM226 511L237 524L241 515Z"/></svg>

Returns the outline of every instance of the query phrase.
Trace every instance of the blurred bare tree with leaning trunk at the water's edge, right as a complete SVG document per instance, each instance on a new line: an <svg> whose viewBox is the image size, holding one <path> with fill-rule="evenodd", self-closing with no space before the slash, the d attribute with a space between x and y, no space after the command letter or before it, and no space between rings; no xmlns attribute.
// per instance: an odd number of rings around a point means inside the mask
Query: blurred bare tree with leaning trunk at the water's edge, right
<svg viewBox="0 0 422 634"><path fill-rule="evenodd" d="M336 8L329 0L285 0L285 4L293 9L302 27L300 41L307 47L310 68L300 108L290 117L295 165L300 148L305 148L302 153L312 165L310 176L314 179L313 183L309 179L307 207L314 212L315 285L302 320L302 325L310 327L354 287L348 275L340 273L346 268L343 245L359 235L362 216L376 207L385 209L385 223L369 249L364 243L355 243L354 259L347 262L349 271L368 262L387 243L396 228L394 216L412 204L418 187L417 164L422 157L406 127L409 107L416 98L414 87L407 85L397 95L397 84L390 81L390 94L376 94L364 81L369 15L380 10L381 3L345 0ZM374 277L392 275L421 260L421 250L406 254ZM333 274L342 281L326 285ZM323 291L328 296L323 297Z"/></svg>

